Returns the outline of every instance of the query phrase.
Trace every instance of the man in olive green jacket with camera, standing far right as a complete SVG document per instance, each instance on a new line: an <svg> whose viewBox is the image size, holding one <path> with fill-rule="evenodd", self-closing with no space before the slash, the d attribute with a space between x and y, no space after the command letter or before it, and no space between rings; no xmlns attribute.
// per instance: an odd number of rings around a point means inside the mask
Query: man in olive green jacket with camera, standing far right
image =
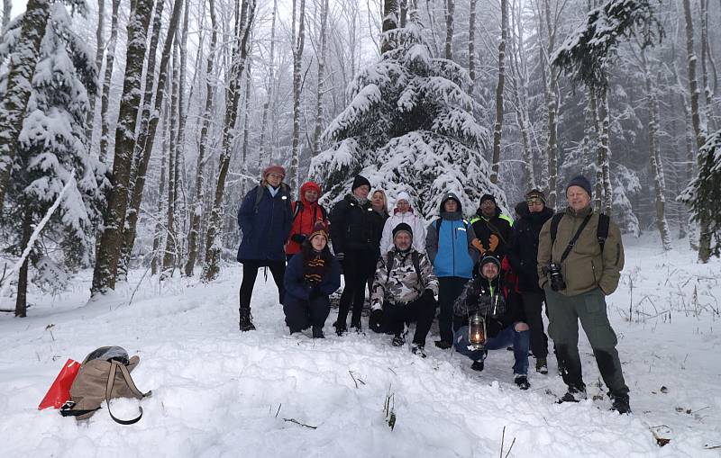
<svg viewBox="0 0 721 458"><path fill-rule="evenodd" d="M559 402L578 402L586 398L579 356L579 319L596 356L598 370L609 390L613 409L630 413L628 387L616 351L616 333L608 322L606 298L616 291L624 267L621 232L614 222L608 225L603 252L598 241L597 211L593 210L591 186L584 176L573 178L566 187L569 206L558 222L555 243L552 242L552 220L546 221L538 239L539 285L546 293L549 312L548 331L562 365L563 382L568 392ZM583 221L585 228L561 261ZM552 289L549 265L561 265L565 286ZM562 286L562 285L561 285Z"/></svg>

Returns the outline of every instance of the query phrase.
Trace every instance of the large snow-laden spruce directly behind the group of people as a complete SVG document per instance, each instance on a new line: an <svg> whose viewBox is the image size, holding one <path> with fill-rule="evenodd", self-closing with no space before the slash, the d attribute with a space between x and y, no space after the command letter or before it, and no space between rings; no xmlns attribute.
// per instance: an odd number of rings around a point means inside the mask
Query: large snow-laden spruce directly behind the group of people
<svg viewBox="0 0 721 458"><path fill-rule="evenodd" d="M406 190L425 218L438 213L446 192L457 193L466 211L484 193L505 207L481 154L488 131L470 114L466 69L431 57L415 12L383 40L394 46L351 82L351 103L324 132L333 145L311 161L324 202L341 199L362 174L391 196Z"/></svg>

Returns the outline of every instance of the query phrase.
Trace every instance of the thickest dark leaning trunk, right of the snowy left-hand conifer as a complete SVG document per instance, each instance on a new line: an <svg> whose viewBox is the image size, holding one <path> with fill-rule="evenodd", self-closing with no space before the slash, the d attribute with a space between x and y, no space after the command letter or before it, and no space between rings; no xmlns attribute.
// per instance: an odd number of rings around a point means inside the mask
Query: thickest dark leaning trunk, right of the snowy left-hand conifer
<svg viewBox="0 0 721 458"><path fill-rule="evenodd" d="M135 149L135 127L138 106L141 103L141 75L145 57L145 41L151 22L152 0L136 0L135 9L128 20L128 48L125 53L125 78L115 129L113 162L113 189L108 193L104 230L97 250L91 292L105 293L114 289L120 248L123 244L125 211L128 208L128 190L132 151Z"/></svg>

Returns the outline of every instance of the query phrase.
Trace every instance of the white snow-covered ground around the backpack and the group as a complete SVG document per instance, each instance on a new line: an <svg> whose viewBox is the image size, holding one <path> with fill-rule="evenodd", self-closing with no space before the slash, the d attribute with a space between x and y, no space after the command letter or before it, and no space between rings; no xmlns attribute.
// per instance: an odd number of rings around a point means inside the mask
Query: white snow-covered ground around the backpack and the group
<svg viewBox="0 0 721 458"><path fill-rule="evenodd" d="M489 457L511 445L517 457L721 456L721 262L697 265L685 242L667 254L650 238L625 243L608 307L631 416L608 411L606 398L555 404L563 384L552 358L551 373L531 374L529 391L513 385L505 350L474 373L470 360L434 347L435 329L426 359L388 336L336 337L334 311L328 338L289 337L262 275L252 302L258 330L241 334L240 266L208 285L174 279L160 289L146 277L130 304L142 272L89 305L86 273L72 292L32 294L27 319L0 316L3 456ZM139 423L117 425L105 410L81 423L37 410L68 357L107 345L141 356L133 379L153 395L140 401ZM589 395L599 394L583 336L580 345ZM115 400L114 411L132 417L138 404ZM654 435L671 442L659 447Z"/></svg>

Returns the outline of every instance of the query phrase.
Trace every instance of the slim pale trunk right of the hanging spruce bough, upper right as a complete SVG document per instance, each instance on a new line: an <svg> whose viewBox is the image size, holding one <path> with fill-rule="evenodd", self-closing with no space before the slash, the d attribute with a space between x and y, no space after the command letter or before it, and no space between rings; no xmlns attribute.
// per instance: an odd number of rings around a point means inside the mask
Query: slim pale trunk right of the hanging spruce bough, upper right
<svg viewBox="0 0 721 458"><path fill-rule="evenodd" d="M656 209L656 228L659 229L661 243L663 249L668 251L671 249L671 234L669 224L666 221L666 192L665 180L663 179L663 169L661 162L661 145L659 144L659 102L655 85L651 79L651 74L646 61L646 51L641 49L641 58L643 64L643 83L648 94L648 146L649 161L651 164L651 173L653 175L653 184L655 187L654 207Z"/></svg>

